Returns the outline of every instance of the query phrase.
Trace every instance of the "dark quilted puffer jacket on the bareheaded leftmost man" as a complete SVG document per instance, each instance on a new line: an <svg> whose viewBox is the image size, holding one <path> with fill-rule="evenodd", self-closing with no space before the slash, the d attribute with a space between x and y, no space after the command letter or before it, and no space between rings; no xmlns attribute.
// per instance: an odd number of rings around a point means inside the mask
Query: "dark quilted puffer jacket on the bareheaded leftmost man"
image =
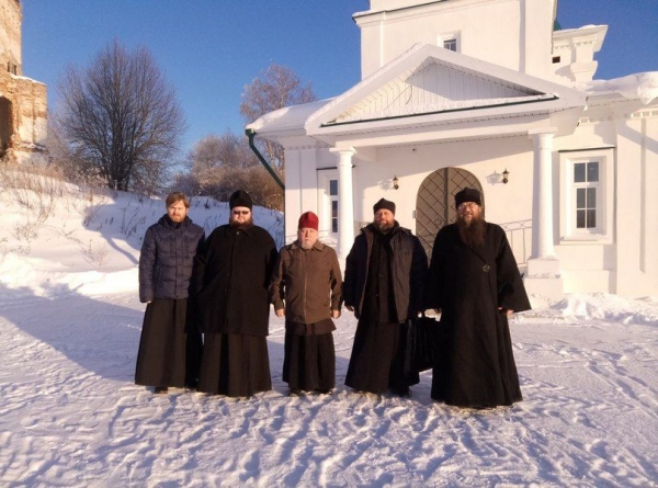
<svg viewBox="0 0 658 488"><path fill-rule="evenodd" d="M150 226L139 254L139 300L188 298L194 257L204 240L203 227L190 217L174 224L166 214Z"/></svg>

